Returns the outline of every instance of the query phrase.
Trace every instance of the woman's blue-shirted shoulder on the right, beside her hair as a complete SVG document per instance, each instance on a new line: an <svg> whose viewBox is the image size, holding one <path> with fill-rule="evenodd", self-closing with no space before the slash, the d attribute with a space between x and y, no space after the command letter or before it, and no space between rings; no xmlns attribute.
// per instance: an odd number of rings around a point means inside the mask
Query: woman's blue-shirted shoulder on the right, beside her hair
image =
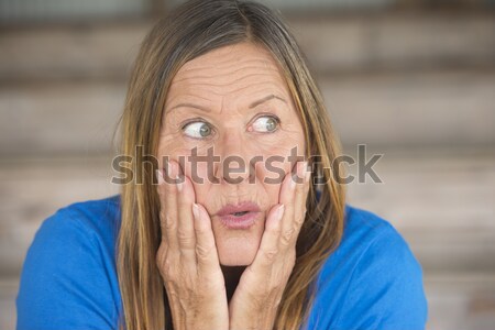
<svg viewBox="0 0 495 330"><path fill-rule="evenodd" d="M346 206L342 241L317 287L314 314L322 329L425 327L421 266L402 234L370 211Z"/></svg>

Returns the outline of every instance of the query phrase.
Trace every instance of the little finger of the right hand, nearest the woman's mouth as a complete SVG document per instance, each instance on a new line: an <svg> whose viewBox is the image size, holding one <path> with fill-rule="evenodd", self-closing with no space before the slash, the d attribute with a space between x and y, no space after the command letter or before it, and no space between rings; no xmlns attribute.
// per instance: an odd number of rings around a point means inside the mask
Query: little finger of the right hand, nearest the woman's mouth
<svg viewBox="0 0 495 330"><path fill-rule="evenodd" d="M265 272L266 268L272 267L276 261L279 252L279 237L280 237L280 219L284 216L285 206L276 205L270 210L265 221L265 231L260 243L260 249L256 252L251 268L255 272Z"/></svg>

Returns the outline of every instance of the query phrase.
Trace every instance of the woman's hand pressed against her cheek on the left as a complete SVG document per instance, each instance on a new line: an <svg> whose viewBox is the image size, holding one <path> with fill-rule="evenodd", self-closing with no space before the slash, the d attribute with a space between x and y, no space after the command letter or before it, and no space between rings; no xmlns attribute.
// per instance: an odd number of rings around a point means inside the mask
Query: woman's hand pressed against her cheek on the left
<svg viewBox="0 0 495 330"><path fill-rule="evenodd" d="M178 179L179 165L168 163L167 182L157 172L162 243L156 263L170 306L174 329L229 329L226 284L211 221L195 204L191 182Z"/></svg>

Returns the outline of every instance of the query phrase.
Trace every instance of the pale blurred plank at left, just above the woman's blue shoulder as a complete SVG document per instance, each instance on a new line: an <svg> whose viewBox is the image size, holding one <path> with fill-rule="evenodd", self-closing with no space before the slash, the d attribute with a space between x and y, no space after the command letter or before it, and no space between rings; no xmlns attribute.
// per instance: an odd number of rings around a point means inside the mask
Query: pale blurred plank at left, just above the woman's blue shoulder
<svg viewBox="0 0 495 330"><path fill-rule="evenodd" d="M111 158L3 162L0 167L0 276L18 274L44 219L76 201L118 194Z"/></svg>

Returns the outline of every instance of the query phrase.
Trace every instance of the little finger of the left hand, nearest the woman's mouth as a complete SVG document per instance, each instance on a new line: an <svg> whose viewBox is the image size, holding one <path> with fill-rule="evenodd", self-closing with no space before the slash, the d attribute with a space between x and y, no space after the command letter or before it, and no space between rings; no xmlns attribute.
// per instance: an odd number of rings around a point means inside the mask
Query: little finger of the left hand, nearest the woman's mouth
<svg viewBox="0 0 495 330"><path fill-rule="evenodd" d="M211 274L220 267L213 230L211 228L211 219L205 207L198 204L193 205L193 215L195 218L194 227L196 232L198 272Z"/></svg>

